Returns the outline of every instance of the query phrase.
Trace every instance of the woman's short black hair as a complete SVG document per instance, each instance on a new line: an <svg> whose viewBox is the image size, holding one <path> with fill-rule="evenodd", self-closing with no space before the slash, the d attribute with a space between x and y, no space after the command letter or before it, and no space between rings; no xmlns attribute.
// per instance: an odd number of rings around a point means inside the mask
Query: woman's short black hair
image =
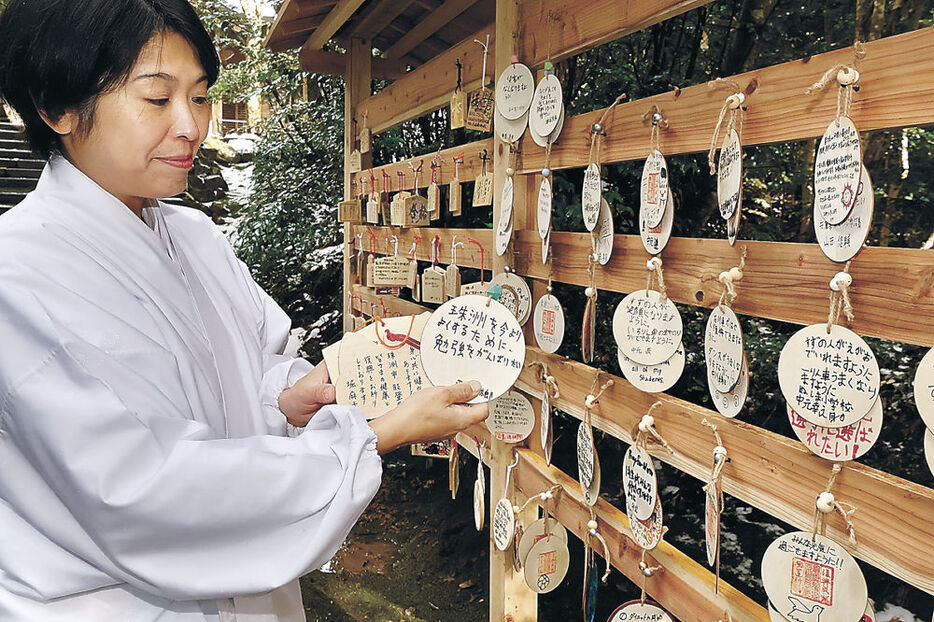
<svg viewBox="0 0 934 622"><path fill-rule="evenodd" d="M40 111L53 121L76 111L87 133L98 97L122 86L143 47L166 32L191 44L214 84L217 50L188 0L13 0L0 13L0 96L48 157L61 140Z"/></svg>

